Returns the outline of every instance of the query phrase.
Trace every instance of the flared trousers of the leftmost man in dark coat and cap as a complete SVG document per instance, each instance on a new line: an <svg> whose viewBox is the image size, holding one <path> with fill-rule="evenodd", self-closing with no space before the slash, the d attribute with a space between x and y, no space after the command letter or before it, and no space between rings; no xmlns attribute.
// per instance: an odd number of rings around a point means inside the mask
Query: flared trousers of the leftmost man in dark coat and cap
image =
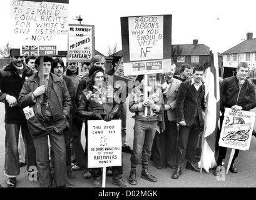
<svg viewBox="0 0 256 200"><path fill-rule="evenodd" d="M5 138L5 161L4 174L8 177L16 177L19 175L19 131L24 138L24 145L28 155L27 171L30 166L36 166L36 151L34 142L29 133L28 124L5 124L6 138Z"/></svg>

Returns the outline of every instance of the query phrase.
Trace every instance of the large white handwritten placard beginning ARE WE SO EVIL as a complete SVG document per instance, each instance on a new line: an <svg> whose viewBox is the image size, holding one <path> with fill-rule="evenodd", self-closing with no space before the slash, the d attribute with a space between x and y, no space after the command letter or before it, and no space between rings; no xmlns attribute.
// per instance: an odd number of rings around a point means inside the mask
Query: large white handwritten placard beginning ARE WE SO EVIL
<svg viewBox="0 0 256 200"><path fill-rule="evenodd" d="M11 0L12 47L68 47L68 0L14 1Z"/></svg>

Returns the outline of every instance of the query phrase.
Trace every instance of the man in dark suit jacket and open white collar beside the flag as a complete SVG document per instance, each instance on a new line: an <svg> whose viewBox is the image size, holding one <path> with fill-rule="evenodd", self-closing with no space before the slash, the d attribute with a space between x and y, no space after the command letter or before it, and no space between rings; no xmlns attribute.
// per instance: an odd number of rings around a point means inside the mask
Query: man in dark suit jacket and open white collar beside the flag
<svg viewBox="0 0 256 200"><path fill-rule="evenodd" d="M202 108L204 107L205 85L202 83L203 66L195 66L193 79L180 84L177 94L177 121L180 124L178 136L177 168L172 175L178 179L182 174L182 165L187 159L186 168L196 172L200 169L193 164L198 136L203 126Z"/></svg>

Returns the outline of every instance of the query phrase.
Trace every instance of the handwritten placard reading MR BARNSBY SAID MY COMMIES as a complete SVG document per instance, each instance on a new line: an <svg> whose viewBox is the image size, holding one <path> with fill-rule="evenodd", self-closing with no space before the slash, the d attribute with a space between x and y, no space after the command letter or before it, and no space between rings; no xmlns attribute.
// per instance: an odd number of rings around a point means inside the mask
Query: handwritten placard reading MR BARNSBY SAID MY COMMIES
<svg viewBox="0 0 256 200"><path fill-rule="evenodd" d="M90 62L95 53L95 26L69 24L68 61Z"/></svg>

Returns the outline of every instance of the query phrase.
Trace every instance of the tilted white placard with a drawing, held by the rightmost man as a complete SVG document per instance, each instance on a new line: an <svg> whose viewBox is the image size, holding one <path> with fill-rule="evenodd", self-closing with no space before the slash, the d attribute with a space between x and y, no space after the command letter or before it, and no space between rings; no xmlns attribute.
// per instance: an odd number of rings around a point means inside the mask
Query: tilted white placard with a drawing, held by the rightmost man
<svg viewBox="0 0 256 200"><path fill-rule="evenodd" d="M248 150L254 121L254 112L226 108L218 144L226 148Z"/></svg>

